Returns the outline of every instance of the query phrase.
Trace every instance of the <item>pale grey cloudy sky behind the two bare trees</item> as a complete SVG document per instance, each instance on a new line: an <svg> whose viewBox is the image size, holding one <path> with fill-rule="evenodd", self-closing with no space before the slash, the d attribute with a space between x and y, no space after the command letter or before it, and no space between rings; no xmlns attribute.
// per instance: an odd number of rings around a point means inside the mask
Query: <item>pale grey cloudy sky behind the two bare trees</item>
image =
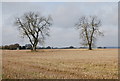
<svg viewBox="0 0 120 81"><path fill-rule="evenodd" d="M81 46L79 31L74 25L81 16L86 15L96 15L102 20L100 29L105 36L98 38L97 46L118 45L117 2L3 2L0 20L3 45L29 43L27 39L21 38L17 27L13 25L15 17L29 11L40 12L43 16L51 15L53 18L50 37L46 39L45 46Z"/></svg>

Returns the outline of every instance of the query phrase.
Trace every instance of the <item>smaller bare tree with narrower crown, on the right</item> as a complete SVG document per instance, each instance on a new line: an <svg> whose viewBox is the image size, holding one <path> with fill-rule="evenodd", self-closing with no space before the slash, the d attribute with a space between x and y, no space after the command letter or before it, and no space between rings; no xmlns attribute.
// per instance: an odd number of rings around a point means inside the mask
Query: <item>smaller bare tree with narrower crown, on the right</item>
<svg viewBox="0 0 120 81"><path fill-rule="evenodd" d="M83 16L75 26L80 30L80 38L83 40L82 44L88 46L89 50L92 50L92 46L95 45L96 38L103 36L103 32L99 29L101 20L96 16Z"/></svg>

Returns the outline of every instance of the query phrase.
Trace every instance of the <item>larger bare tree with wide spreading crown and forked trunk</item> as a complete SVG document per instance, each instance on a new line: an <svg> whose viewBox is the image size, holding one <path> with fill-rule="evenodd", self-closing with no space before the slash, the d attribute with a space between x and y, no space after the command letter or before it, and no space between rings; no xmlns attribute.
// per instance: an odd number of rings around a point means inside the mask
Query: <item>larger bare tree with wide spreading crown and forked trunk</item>
<svg viewBox="0 0 120 81"><path fill-rule="evenodd" d="M38 43L43 43L46 36L49 36L52 18L40 16L39 13L28 12L17 18L15 24L21 31L23 37L27 37L32 45L32 50L36 50Z"/></svg>

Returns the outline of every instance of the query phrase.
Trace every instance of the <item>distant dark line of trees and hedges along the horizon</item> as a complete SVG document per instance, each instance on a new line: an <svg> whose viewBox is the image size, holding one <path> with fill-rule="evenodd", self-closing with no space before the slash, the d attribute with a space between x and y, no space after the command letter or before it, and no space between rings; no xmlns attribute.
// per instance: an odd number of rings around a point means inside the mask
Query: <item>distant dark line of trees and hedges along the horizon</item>
<svg viewBox="0 0 120 81"><path fill-rule="evenodd" d="M52 47L52 46L46 46L46 47L36 47L37 49L87 49L87 47L75 47L75 46L66 46L66 47ZM107 47L96 47L98 49L105 49ZM31 44L25 44L24 46L21 46L20 44L11 44L11 45L4 45L0 46L0 49L3 50L27 50L32 49Z"/></svg>

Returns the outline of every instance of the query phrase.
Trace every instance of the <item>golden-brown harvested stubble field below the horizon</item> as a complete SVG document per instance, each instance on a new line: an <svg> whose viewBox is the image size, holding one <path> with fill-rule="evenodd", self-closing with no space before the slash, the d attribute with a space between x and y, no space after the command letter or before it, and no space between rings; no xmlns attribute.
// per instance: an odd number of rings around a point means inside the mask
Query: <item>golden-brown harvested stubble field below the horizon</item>
<svg viewBox="0 0 120 81"><path fill-rule="evenodd" d="M117 49L3 50L3 79L117 79Z"/></svg>

